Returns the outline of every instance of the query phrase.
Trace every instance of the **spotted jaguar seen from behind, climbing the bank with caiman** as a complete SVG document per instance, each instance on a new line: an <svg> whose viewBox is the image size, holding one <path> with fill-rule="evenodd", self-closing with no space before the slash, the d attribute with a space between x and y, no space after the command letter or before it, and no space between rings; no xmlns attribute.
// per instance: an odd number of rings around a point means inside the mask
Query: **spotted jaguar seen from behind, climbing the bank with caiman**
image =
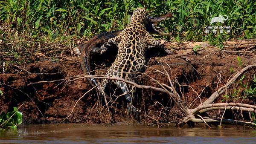
<svg viewBox="0 0 256 144"><path fill-rule="evenodd" d="M148 23L149 17L146 10L138 8L131 16L129 25L119 35L110 38L107 43L104 43L101 47L102 52L104 52L104 47L110 45L118 46L118 54L108 69L106 76L124 78L136 82L136 73L145 71L145 55L148 49L157 48L167 54L170 53L146 30ZM109 82L122 90L127 101L128 112L135 113L137 111L133 106L133 101L137 94L135 88L132 89L131 85L122 81L105 79L102 83L103 89Z"/></svg>

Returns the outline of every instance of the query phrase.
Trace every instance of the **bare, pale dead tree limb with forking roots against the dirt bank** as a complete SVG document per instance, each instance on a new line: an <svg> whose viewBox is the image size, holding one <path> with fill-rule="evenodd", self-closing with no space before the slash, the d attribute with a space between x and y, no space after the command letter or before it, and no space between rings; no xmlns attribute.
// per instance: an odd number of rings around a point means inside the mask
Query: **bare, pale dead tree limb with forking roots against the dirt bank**
<svg viewBox="0 0 256 144"><path fill-rule="evenodd" d="M135 87L140 88L140 89L152 89L154 91L167 93L169 95L169 97L172 99L172 101L175 103L175 105L178 107L178 109L180 110L180 113L183 115L183 118L181 120L182 123L188 123L189 121L192 121L192 122L196 122L196 123L205 123L208 127L210 127L209 124L216 124L216 123L221 124L221 122L222 123L227 123L227 124L255 126L256 124L253 123L253 122L243 122L243 121L236 121L236 120L230 120L230 119L224 119L224 118L209 118L209 117L205 118L201 115L204 112L209 112L209 111L212 111L212 110L215 110L215 109L233 109L233 110L240 110L240 111L247 111L247 112L256 112L256 106L250 105L250 104L242 104L242 103L217 103L217 104L214 104L214 101L222 93L224 93L236 81L237 78L239 78L242 74L249 71L250 69L256 69L256 64L246 66L243 69L241 69L239 72L236 72L236 74L232 78L230 78L229 81L227 81L227 84L225 84L224 86L221 86L219 89L217 89L217 91L214 92L206 101L199 104L194 109L189 109L186 102L182 102L182 98L178 94L178 92L176 92L175 86L172 84L171 78L169 76L169 73L166 71L166 69L164 69L165 70L164 73L167 75L170 86L168 86L166 84L163 84L163 83L160 83L160 81L157 81L154 78L151 78L147 74L144 74L144 75L146 75L148 78L150 78L156 84L158 84L160 87L139 85L137 83L125 80L123 78L108 77L108 76L105 76L105 75L83 75L83 76L81 76L79 78L75 78L75 79L96 78L96 79L118 80L118 81L123 81L127 84L130 84L130 85L135 86ZM93 87L93 88L95 88L95 87ZM79 100L81 98L79 98ZM106 97L104 99L105 99L105 103L107 105L107 109L108 109L108 112L109 112L108 101L107 101ZM160 115L162 113L163 108L160 110ZM70 113L70 115L71 115L71 113ZM110 115L110 113L109 113L109 115ZM144 114L144 115L148 118L152 118L149 115L146 115L146 114ZM158 118L152 118L152 119L154 121L156 121L157 126L160 127ZM170 121L169 123L172 123L172 121Z"/></svg>

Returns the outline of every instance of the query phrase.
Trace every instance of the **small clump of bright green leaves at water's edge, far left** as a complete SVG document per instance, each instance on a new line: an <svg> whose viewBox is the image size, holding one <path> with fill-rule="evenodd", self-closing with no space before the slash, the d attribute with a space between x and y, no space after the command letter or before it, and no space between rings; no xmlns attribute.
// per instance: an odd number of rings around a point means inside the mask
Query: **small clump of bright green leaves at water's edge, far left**
<svg viewBox="0 0 256 144"><path fill-rule="evenodd" d="M0 128L10 128L17 130L17 126L22 123L22 113L18 111L17 107L13 107L12 112L0 115Z"/></svg>

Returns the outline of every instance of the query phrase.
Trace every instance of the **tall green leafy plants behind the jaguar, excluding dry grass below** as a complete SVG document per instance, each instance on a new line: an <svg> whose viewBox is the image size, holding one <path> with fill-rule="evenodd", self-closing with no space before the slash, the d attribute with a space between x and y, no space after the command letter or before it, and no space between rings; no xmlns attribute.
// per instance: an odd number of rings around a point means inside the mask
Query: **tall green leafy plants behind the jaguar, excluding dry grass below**
<svg viewBox="0 0 256 144"><path fill-rule="evenodd" d="M123 29L129 12L137 7L145 7L152 16L172 12L174 18L159 25L176 39L208 40L218 46L221 40L236 36L256 37L255 0L4 0L0 2L0 20L1 25L9 26L9 32L27 32L32 37L92 36ZM211 18L219 14L227 15L228 20L211 25ZM214 25L231 26L231 32L204 32L205 26Z"/></svg>

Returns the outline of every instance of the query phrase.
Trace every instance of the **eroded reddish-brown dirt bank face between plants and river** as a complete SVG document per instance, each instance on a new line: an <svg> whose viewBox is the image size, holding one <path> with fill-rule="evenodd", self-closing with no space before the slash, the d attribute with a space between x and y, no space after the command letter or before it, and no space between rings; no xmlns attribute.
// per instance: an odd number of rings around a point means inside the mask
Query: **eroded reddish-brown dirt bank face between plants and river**
<svg viewBox="0 0 256 144"><path fill-rule="evenodd" d="M167 71L171 81L175 80L180 84L175 87L190 108L201 104L201 101L208 98L218 87L226 84L236 69L256 62L255 51L235 52L238 50L233 47L227 47L225 51L206 47L198 50L196 54L191 48L183 49L182 46L175 50L174 55L151 58L145 71L148 76L141 76L139 84L159 87L152 78L169 84L167 75L161 73ZM239 65L238 56L242 66ZM12 110L12 107L24 104L20 111L23 112L23 120L27 124L57 123L66 118L79 98L92 88L86 78L81 78L83 72L78 61L79 58L68 57L58 61L42 60L26 65L9 65L6 72L0 74L0 89L3 91L0 97L0 112L7 112ZM256 75L255 70L245 74L244 82L251 83L252 75ZM239 84L234 84L228 92L238 86ZM110 106L113 120L127 121L129 116L126 114L124 98L121 96L116 99L113 96L112 100L115 100ZM224 100L224 97L220 97L217 101ZM141 111L142 122L169 122L181 117L179 109L165 93L138 89L136 101L135 106ZM236 98L233 101L255 105L255 97ZM73 113L65 122L109 122L109 114L104 105L103 98L97 95L96 90L92 90L76 104ZM220 116L219 111L209 112L208 115ZM225 117L246 119L248 114L227 111Z"/></svg>

